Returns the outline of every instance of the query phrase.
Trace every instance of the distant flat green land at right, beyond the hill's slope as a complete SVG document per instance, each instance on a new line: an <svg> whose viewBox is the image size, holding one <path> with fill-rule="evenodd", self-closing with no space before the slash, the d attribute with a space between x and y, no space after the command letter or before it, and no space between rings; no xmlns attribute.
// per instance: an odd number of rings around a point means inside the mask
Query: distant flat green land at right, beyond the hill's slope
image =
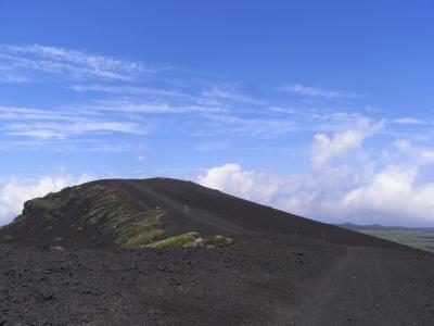
<svg viewBox="0 0 434 326"><path fill-rule="evenodd" d="M434 228L386 227L381 225L340 225L374 237L434 252Z"/></svg>

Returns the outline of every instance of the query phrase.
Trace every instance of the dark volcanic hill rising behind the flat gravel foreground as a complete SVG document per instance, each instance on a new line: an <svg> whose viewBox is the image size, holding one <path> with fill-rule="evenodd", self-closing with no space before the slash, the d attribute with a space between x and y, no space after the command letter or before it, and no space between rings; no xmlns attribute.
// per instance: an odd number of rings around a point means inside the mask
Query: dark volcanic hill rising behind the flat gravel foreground
<svg viewBox="0 0 434 326"><path fill-rule="evenodd" d="M29 201L14 223L0 229L0 241L113 247L123 243L124 234L131 231L120 231L119 225L136 228L150 217L158 222L152 235L148 235L149 241L189 231L233 238L255 233L296 234L340 244L414 251L168 178L99 180Z"/></svg>

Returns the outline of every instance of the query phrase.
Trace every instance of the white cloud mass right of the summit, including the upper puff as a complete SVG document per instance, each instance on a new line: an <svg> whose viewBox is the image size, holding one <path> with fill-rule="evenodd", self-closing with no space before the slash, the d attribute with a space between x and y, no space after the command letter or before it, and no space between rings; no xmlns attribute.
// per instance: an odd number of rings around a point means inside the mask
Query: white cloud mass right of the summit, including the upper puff
<svg viewBox="0 0 434 326"><path fill-rule="evenodd" d="M314 168L305 174L266 174L232 163L205 171L197 181L324 222L432 225L434 176L427 164L434 163L434 151L398 139L391 147L383 146L387 155L365 152L362 140L383 124L359 120L352 129L333 137L316 137L312 147L319 146L318 141L320 146L314 152ZM358 148L357 160L347 160L347 151L354 148ZM345 160L329 162L332 158Z"/></svg>

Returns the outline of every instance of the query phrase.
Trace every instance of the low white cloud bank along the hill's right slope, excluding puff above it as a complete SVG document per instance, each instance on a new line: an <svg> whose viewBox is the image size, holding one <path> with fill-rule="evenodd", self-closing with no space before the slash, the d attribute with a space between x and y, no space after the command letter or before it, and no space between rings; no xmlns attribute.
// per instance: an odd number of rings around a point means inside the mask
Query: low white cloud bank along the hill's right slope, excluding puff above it
<svg viewBox="0 0 434 326"><path fill-rule="evenodd" d="M373 173L347 167L277 176L225 164L207 170L197 181L326 222L414 226L434 222L434 181L421 183L420 176L412 165L391 165Z"/></svg>

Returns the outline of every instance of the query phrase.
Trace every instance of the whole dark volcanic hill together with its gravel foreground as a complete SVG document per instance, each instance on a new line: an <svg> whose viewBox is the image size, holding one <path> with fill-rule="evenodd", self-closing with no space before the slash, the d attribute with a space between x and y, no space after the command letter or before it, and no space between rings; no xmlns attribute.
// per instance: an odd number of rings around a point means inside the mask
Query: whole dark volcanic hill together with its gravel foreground
<svg viewBox="0 0 434 326"><path fill-rule="evenodd" d="M0 229L0 325L432 325L430 253L190 181L98 180Z"/></svg>

